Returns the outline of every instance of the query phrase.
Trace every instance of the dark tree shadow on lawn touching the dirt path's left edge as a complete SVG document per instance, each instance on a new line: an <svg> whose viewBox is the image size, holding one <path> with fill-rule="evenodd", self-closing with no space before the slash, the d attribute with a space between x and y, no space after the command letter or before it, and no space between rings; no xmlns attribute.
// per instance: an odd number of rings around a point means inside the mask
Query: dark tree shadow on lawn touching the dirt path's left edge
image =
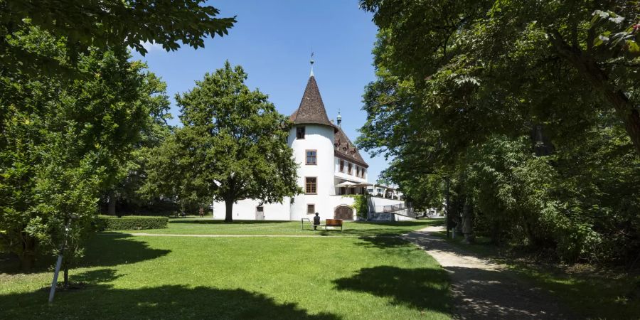
<svg viewBox="0 0 640 320"><path fill-rule="evenodd" d="M449 277L442 269L378 266L333 282L338 290L366 292L390 298L392 304L450 314Z"/></svg>

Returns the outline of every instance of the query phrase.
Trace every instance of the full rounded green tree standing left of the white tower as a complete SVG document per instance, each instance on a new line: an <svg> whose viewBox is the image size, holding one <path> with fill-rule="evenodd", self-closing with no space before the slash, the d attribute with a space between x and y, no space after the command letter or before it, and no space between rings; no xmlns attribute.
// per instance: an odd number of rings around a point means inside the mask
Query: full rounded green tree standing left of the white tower
<svg viewBox="0 0 640 320"><path fill-rule="evenodd" d="M225 201L225 222L233 221L233 203L239 200L273 203L301 192L287 145L291 124L267 95L249 90L246 79L242 67L227 61L191 91L176 95L183 127L161 146L171 156L157 159L163 172L149 175L149 188L201 203L212 197Z"/></svg>

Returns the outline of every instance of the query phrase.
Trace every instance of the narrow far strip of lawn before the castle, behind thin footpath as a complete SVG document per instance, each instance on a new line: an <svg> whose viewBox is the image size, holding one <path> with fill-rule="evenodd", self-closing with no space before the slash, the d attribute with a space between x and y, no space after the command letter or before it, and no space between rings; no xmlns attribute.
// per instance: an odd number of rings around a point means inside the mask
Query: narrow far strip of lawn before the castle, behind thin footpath
<svg viewBox="0 0 640 320"><path fill-rule="evenodd" d="M416 220L395 223L373 223L346 221L343 232L329 229L325 232L314 231L309 222L304 223L301 230L300 221L269 221L269 220L239 220L234 223L224 223L222 220L172 218L169 228L154 230L128 230L125 233L163 233L183 235L341 235L341 236L370 236L370 235L400 235L413 230L425 228L439 223L439 220Z"/></svg>

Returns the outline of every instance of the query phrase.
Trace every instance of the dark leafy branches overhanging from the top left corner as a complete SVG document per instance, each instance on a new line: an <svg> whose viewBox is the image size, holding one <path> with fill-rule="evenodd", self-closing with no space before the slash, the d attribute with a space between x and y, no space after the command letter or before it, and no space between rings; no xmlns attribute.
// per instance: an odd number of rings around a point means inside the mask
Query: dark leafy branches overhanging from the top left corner
<svg viewBox="0 0 640 320"><path fill-rule="evenodd" d="M38 26L61 39L70 60L89 48L131 47L144 55L143 43L159 43L176 50L178 42L203 48L206 36L223 36L234 18L218 18L213 6L203 0L1 0L0 63L11 70L40 73L68 69L33 48L10 46L11 35L28 26Z"/></svg>

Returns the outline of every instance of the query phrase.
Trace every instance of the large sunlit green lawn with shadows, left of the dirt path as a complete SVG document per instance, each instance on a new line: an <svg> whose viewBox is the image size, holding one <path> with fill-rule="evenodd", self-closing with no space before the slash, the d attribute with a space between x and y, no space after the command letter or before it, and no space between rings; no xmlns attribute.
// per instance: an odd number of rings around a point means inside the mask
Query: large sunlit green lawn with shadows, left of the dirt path
<svg viewBox="0 0 640 320"><path fill-rule="evenodd" d="M248 228L243 233L257 234L256 225L272 234L289 233L287 225L299 228L296 223L171 223L171 228L154 232L235 234ZM421 225L353 227L362 235L375 235ZM450 318L449 279L432 257L395 238L351 235L181 238L105 233L92 239L84 266L71 272L73 281L87 287L58 292L52 306L43 289L50 271L16 274L5 268L0 273L0 319Z"/></svg>

